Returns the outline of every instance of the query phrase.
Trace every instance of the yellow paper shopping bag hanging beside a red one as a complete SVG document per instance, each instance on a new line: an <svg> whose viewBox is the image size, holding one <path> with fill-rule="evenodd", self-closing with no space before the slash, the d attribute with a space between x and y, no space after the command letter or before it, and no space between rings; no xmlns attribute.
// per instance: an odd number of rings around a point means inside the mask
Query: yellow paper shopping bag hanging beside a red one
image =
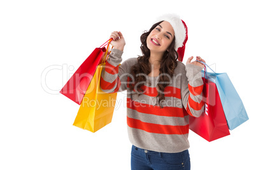
<svg viewBox="0 0 256 170"><path fill-rule="evenodd" d="M104 93L100 88L104 65L105 63L97 67L73 123L74 126L93 133L111 122L117 99L117 93Z"/></svg>

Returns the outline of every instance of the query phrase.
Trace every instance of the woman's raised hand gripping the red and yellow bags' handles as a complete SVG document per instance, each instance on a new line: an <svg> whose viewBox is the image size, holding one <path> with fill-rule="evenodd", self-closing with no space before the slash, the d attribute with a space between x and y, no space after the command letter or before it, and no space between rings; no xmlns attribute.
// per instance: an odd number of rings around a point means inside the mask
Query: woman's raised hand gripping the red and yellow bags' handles
<svg viewBox="0 0 256 170"><path fill-rule="evenodd" d="M117 32L117 31L112 32L110 38L113 38L113 40L110 42L110 44L115 49L124 51L125 40L124 40L124 36L121 32Z"/></svg>

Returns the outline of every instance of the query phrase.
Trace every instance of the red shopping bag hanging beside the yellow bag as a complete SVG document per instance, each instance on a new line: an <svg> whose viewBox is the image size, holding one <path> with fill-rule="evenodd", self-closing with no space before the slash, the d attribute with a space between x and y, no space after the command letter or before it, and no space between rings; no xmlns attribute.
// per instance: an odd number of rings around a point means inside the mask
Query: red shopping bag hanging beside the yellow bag
<svg viewBox="0 0 256 170"><path fill-rule="evenodd" d="M80 65L69 81L60 90L62 95L75 101L78 105L81 104L90 81L92 81L92 78L94 77L97 66L99 63L103 62L104 57L106 58L106 53L108 53L108 47L111 40L112 39L109 39L101 47L92 51L85 62ZM106 45L108 45L107 49L104 47Z"/></svg>

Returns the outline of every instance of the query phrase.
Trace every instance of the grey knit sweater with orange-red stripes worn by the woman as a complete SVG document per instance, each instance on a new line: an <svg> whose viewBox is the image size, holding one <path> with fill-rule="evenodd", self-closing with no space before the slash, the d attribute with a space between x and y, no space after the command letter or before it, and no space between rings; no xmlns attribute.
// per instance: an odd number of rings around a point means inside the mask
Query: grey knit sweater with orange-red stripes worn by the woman
<svg viewBox="0 0 256 170"><path fill-rule="evenodd" d="M138 58L122 62L122 51L112 49L101 74L106 93L127 90L127 129L132 145L155 152L176 153L189 148L188 115L199 117L204 110L201 67L178 62L171 81L164 89L165 100L157 104L158 77L145 75L143 95L129 89L131 67Z"/></svg>

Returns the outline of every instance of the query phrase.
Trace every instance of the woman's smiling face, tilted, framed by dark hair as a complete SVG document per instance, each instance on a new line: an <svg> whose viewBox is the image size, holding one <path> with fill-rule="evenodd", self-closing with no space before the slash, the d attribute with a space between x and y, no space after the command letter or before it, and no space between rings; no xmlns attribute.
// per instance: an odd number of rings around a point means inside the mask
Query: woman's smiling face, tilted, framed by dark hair
<svg viewBox="0 0 256 170"><path fill-rule="evenodd" d="M164 53L174 38L174 30L169 22L161 22L146 38L146 46L150 52Z"/></svg>

